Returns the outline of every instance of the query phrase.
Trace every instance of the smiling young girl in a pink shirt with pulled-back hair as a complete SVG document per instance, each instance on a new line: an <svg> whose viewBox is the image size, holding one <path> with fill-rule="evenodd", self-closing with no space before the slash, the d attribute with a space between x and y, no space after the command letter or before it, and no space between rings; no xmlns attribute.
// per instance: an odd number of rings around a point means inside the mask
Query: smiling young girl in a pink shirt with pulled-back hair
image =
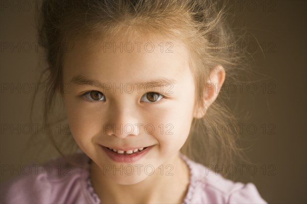
<svg viewBox="0 0 307 204"><path fill-rule="evenodd" d="M39 40L52 84L45 122L59 88L82 152L17 178L2 188L3 202L265 203L253 184L208 168L238 153L233 135L207 128L231 118L214 101L238 59L218 49L232 40L219 7L44 1Z"/></svg>

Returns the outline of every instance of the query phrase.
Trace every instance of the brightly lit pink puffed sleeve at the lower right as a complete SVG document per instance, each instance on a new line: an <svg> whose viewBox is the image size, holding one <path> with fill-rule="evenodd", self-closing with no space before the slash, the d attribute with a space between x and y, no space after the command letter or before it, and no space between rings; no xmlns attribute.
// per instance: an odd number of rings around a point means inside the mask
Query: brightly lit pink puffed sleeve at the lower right
<svg viewBox="0 0 307 204"><path fill-rule="evenodd" d="M244 185L241 189L234 191L229 196L228 203L267 203L260 196L256 187L252 183Z"/></svg>

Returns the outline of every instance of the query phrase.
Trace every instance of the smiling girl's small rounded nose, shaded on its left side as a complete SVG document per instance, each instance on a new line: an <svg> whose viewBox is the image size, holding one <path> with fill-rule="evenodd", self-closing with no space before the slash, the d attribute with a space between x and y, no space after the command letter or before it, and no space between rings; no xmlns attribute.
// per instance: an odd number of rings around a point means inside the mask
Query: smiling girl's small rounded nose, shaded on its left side
<svg viewBox="0 0 307 204"><path fill-rule="evenodd" d="M108 112L108 123L104 124L104 134L114 135L124 139L131 135L140 134L137 111L128 105L112 107Z"/></svg>

